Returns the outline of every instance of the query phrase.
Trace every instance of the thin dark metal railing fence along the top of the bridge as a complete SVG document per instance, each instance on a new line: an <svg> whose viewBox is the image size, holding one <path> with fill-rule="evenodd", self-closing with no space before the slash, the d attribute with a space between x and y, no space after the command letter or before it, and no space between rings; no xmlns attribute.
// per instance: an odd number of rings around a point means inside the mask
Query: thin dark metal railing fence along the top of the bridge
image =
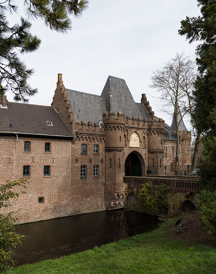
<svg viewBox="0 0 216 274"><path fill-rule="evenodd" d="M192 165L158 165L147 166L147 175L168 175L168 176L196 176L197 166Z"/></svg>

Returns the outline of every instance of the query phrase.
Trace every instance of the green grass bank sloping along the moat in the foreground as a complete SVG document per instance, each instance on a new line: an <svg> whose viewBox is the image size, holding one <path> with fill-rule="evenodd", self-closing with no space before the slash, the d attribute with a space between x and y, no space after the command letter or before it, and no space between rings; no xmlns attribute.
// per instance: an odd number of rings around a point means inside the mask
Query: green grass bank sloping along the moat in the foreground
<svg viewBox="0 0 216 274"><path fill-rule="evenodd" d="M173 241L172 236L164 231L172 221L166 220L150 233L94 247L62 259L19 266L7 274L216 274L216 249Z"/></svg>

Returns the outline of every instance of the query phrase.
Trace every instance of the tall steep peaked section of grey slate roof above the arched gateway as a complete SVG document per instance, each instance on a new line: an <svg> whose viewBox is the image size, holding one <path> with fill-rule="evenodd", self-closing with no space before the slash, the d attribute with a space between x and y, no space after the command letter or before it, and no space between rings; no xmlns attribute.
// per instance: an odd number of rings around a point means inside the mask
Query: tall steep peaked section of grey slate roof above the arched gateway
<svg viewBox="0 0 216 274"><path fill-rule="evenodd" d="M106 109L104 111L108 111L108 113L122 111L125 116L150 118L145 107L135 103L124 79L109 76L101 96L105 100Z"/></svg>

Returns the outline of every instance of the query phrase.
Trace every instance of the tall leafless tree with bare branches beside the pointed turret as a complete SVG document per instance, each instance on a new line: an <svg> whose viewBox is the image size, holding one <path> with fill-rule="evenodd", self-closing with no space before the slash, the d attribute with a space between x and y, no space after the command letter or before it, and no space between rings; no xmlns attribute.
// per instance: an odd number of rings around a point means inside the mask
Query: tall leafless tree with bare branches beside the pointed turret
<svg viewBox="0 0 216 274"><path fill-rule="evenodd" d="M150 88L158 91L163 102L163 111L172 115L176 127L176 155L179 161L179 125L186 114L192 114L194 102L192 91L196 78L195 62L185 56L184 52L176 53L175 57L165 63L161 69L153 72ZM173 114L174 107L174 114Z"/></svg>

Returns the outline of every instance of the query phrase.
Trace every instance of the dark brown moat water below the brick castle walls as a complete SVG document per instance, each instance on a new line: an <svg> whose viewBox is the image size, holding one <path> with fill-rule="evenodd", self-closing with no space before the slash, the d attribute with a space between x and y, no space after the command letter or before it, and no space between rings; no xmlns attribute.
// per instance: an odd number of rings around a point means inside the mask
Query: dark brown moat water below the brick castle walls
<svg viewBox="0 0 216 274"><path fill-rule="evenodd" d="M158 219L136 211L103 211L20 225L29 238L16 248L16 265L54 259L153 230Z"/></svg>

